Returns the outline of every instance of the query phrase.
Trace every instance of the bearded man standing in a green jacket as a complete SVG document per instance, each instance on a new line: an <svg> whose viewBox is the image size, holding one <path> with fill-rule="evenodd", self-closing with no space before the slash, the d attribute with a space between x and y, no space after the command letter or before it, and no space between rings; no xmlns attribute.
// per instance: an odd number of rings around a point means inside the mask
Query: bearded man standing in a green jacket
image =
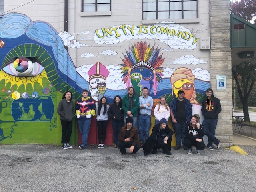
<svg viewBox="0 0 256 192"><path fill-rule="evenodd" d="M126 119L128 116L132 117L133 125L137 128L138 109L140 107L139 97L134 94L133 87L129 87L127 92L128 94L124 96L122 105L124 110L124 119Z"/></svg>

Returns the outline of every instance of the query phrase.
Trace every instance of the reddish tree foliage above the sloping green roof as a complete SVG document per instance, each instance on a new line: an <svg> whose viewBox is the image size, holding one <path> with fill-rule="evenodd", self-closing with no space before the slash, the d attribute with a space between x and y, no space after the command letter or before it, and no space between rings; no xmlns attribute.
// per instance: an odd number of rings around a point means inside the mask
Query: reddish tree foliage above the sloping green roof
<svg viewBox="0 0 256 192"><path fill-rule="evenodd" d="M250 22L256 16L256 1L255 0L240 0L234 3L231 2L231 13ZM256 19L253 24L256 25Z"/></svg>

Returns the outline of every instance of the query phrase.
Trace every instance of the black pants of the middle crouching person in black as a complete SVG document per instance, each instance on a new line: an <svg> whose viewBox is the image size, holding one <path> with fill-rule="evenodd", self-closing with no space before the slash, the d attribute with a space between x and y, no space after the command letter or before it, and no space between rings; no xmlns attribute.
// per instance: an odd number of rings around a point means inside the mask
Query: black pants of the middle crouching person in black
<svg viewBox="0 0 256 192"><path fill-rule="evenodd" d="M158 149L162 149L164 153L171 152L171 141L172 137L169 137L167 144L164 143L164 139L159 138L156 141L153 140L152 136L148 137L147 141L143 145L144 153L156 152Z"/></svg>

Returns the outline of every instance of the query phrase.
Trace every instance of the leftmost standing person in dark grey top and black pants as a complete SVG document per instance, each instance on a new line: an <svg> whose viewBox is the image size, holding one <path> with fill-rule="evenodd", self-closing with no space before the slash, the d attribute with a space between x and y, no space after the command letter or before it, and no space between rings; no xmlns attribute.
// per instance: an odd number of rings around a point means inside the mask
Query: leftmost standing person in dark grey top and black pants
<svg viewBox="0 0 256 192"><path fill-rule="evenodd" d="M60 101L57 113L60 115L60 122L62 127L61 143L63 149L73 148L69 145L72 133L72 119L74 117L74 102L72 100L72 93L67 91L64 93Z"/></svg>

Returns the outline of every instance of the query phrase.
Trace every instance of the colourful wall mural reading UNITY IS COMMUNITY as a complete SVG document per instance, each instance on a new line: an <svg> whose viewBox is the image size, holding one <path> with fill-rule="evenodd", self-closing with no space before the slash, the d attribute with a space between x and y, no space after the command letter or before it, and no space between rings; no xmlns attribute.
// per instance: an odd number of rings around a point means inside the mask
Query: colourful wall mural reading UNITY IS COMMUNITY
<svg viewBox="0 0 256 192"><path fill-rule="evenodd" d="M173 61L163 56L164 52L172 53L176 49L196 48L198 37L184 26L160 22L102 27L95 30L92 40L95 44L106 44L105 50L98 53L85 49L88 45L81 43L85 38L79 42L75 36L58 33L50 24L33 22L24 14L4 14L0 29L0 114L1 118L2 114L6 116L0 119L0 142L15 138L16 143L38 143L39 134L49 134L41 142L56 143L56 135L50 133L61 129L57 125L56 108L65 91L71 91L77 99L83 89L88 89L94 101L105 96L112 103L115 95L124 97L127 87L132 85L137 95L142 94L143 87L148 87L155 101L164 96L170 103L178 90L183 89L193 105L193 113L201 115L200 104L210 87L210 73L194 66L208 62L185 51L184 56ZM111 47L126 40L129 40L126 53ZM64 46L85 49L80 57L86 64L74 66ZM104 59L97 59L99 55L115 57L120 62L106 65ZM97 62L90 61L95 58ZM24 137L33 133L38 135L29 141Z"/></svg>

